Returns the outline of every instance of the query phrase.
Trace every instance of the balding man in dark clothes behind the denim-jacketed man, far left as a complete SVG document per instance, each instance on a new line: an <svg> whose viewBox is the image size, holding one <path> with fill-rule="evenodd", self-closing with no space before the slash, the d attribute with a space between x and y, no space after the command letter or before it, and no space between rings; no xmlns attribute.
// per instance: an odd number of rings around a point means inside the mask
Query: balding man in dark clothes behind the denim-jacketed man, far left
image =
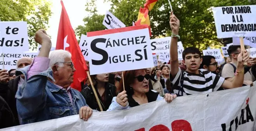
<svg viewBox="0 0 256 131"><path fill-rule="evenodd" d="M33 59L30 57L22 57L17 62L17 69L30 65L32 60ZM21 124L21 118L17 113L15 94L18 90L18 86L21 86L23 82L24 75L17 76L11 80L10 73L7 72L7 70L0 70L0 96L5 99L10 109L12 110L13 116L15 118L15 123L13 125Z"/></svg>

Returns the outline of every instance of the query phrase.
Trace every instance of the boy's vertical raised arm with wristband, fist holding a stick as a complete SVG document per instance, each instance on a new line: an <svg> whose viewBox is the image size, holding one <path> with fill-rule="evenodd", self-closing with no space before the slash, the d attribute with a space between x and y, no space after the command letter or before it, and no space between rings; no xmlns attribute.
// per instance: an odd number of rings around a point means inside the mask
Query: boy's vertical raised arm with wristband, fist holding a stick
<svg viewBox="0 0 256 131"><path fill-rule="evenodd" d="M173 14L173 12L171 12ZM179 28L180 28L180 20L175 15L170 16L170 26L171 26L171 45L170 45L170 64L171 64L171 76L175 77L178 69L179 69L179 62L178 62L178 35Z"/></svg>

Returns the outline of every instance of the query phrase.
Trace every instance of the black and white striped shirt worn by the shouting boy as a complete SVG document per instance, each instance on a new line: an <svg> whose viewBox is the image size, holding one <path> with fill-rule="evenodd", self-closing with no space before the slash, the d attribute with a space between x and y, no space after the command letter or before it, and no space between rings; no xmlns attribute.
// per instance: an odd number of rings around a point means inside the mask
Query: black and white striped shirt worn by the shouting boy
<svg viewBox="0 0 256 131"><path fill-rule="evenodd" d="M179 67L175 78L170 74L170 81L175 94L187 96L217 91L225 79L205 69L199 69L199 74L192 74L181 71Z"/></svg>

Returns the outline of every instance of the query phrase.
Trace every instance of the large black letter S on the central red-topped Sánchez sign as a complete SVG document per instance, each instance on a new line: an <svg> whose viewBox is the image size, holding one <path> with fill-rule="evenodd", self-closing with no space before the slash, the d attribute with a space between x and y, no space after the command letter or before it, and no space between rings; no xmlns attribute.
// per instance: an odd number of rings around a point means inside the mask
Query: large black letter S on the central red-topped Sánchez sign
<svg viewBox="0 0 256 131"><path fill-rule="evenodd" d="M92 43L91 43L91 49L93 52L97 53L97 54L100 54L102 55L102 59L101 60L93 60L92 59L92 64L93 65L102 65L104 63L107 62L107 59L109 57L109 55L107 54L107 52L105 50L102 50L100 48L97 48L96 47L96 44L97 43L105 43L107 39L104 39L104 38L98 38L98 39L94 39L92 40Z"/></svg>

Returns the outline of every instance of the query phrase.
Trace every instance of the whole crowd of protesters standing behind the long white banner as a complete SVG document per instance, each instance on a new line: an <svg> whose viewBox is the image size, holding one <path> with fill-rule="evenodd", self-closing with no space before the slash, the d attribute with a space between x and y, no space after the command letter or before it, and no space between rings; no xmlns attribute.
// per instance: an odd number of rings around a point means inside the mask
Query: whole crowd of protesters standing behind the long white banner
<svg viewBox="0 0 256 131"><path fill-rule="evenodd" d="M215 57L201 56L195 47L185 49L183 60L178 60L180 21L175 15L170 16L170 27L170 64L159 61L148 69L92 75L92 83L81 83L81 92L70 87L76 71L71 54L50 51L50 37L45 30L37 31L35 40L42 45L38 56L21 58L17 69L0 70L0 128L75 114L87 121L93 112L100 111L95 95L103 111L116 111L162 99L169 103L177 96L232 89L255 81L256 59L240 46L230 46L231 61L227 59L220 66Z"/></svg>

